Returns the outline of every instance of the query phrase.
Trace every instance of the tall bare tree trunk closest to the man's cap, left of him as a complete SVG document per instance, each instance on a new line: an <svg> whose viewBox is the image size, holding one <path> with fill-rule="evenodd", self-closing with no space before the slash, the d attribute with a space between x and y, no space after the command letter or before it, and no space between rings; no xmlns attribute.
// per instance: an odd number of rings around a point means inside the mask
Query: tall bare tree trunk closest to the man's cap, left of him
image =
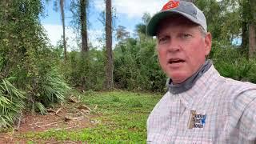
<svg viewBox="0 0 256 144"><path fill-rule="evenodd" d="M112 12L111 0L106 0L106 90L113 89L113 57L112 57Z"/></svg>

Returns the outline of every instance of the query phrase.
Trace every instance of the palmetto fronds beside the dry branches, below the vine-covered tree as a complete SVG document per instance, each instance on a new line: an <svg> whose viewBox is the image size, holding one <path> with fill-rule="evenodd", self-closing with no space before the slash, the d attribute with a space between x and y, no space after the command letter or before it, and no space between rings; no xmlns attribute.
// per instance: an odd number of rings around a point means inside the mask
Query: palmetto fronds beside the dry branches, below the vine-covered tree
<svg viewBox="0 0 256 144"><path fill-rule="evenodd" d="M64 102L70 89L61 74L57 70L51 70L40 77L34 85L34 89L30 90L30 104L28 106L32 111L46 114L46 107L58 102Z"/></svg>

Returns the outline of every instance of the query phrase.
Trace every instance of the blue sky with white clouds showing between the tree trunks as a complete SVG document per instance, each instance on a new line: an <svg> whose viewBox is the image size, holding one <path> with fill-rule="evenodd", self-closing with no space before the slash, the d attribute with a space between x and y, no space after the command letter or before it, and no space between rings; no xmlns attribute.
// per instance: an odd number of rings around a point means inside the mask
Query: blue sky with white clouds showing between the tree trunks
<svg viewBox="0 0 256 144"><path fill-rule="evenodd" d="M105 33L105 28L99 19L101 19L100 14L105 10L105 2L104 0L90 0L90 2L88 38L93 46L100 47L102 44L99 39ZM146 12L151 15L157 13L166 2L168 0L112 0L112 6L116 14L114 27L125 26L126 30L130 32L130 35L133 35L135 26L142 22L142 15ZM69 3L70 0L66 0L65 18L68 50L78 50L74 30L70 27L72 14L68 10L67 5ZM62 23L60 10L58 12L54 11L54 1L45 2L45 17L41 17L40 19L42 26L46 30L46 34L48 34L50 43L56 46L62 36ZM113 41L115 44L115 39Z"/></svg>

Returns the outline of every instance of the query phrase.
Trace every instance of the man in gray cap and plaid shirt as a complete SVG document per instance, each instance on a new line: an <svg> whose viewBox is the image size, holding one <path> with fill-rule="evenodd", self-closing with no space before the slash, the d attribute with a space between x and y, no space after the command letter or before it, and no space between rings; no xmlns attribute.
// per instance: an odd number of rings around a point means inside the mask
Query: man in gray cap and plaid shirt
<svg viewBox="0 0 256 144"><path fill-rule="evenodd" d="M148 143L256 143L256 85L218 74L206 31L191 2L172 0L150 19L146 33L170 81L147 120Z"/></svg>

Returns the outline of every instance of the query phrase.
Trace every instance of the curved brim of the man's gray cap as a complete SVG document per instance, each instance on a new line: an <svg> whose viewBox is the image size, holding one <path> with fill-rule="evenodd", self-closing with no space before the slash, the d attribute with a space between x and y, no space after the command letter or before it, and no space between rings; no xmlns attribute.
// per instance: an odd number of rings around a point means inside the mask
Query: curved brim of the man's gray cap
<svg viewBox="0 0 256 144"><path fill-rule="evenodd" d="M198 20L189 14L182 13L182 12L176 11L176 10L166 10L166 11L161 11L158 14L154 14L154 16L150 19L150 22L146 26L146 34L148 36L156 36L158 22L160 22L162 19L170 17L171 15L174 15L174 14L182 15L183 17L188 18L190 21L200 25Z"/></svg>

